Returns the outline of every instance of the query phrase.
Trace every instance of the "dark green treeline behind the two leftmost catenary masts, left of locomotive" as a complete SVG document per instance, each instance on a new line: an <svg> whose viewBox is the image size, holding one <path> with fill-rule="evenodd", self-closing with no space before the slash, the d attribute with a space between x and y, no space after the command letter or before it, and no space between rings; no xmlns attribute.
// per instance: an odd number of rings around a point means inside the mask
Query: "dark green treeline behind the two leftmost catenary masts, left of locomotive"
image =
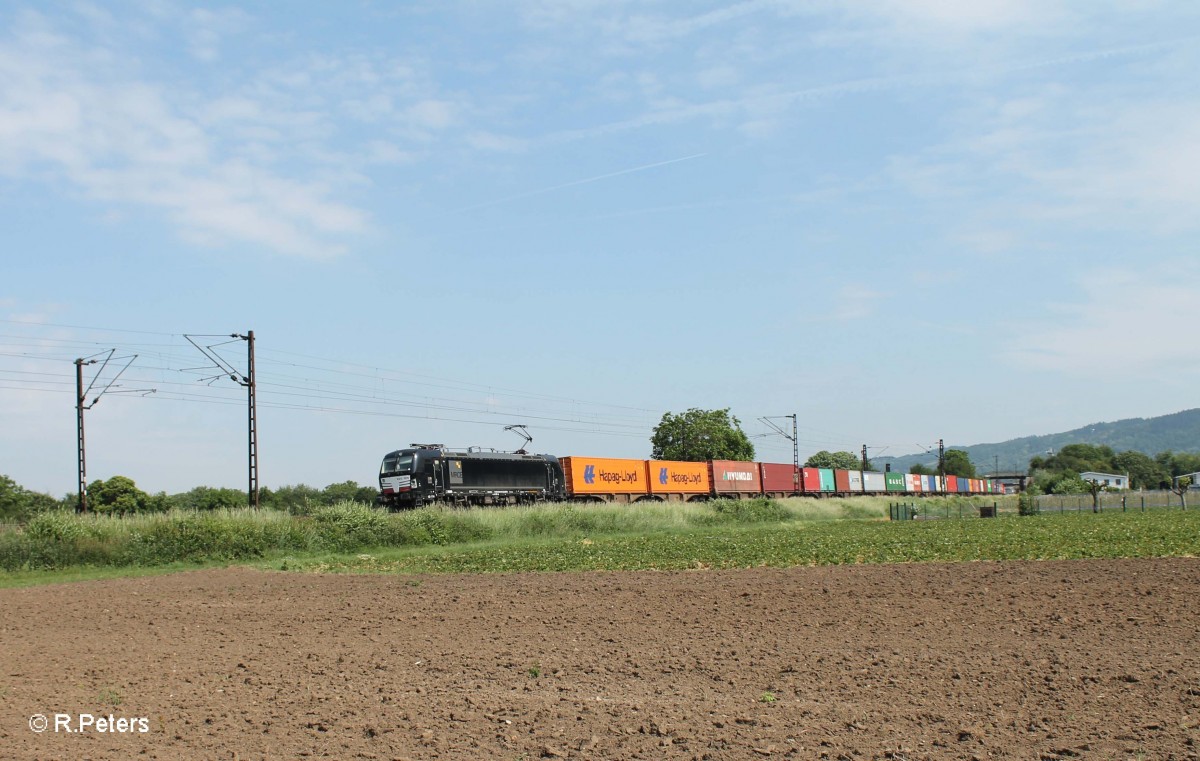
<svg viewBox="0 0 1200 761"><path fill-rule="evenodd" d="M359 486L355 481L330 484L324 489L298 484L259 490L259 507L307 515L318 508L342 502L373 504L378 495L373 486ZM151 495L124 475L95 480L88 485L88 510L101 515L136 515L176 509L206 511L245 508L247 502L245 491L211 486L197 486L179 495ZM77 504L78 495L71 493L56 499L50 495L30 491L7 475L0 475L0 523L24 523L35 515L54 510L73 511Z"/></svg>

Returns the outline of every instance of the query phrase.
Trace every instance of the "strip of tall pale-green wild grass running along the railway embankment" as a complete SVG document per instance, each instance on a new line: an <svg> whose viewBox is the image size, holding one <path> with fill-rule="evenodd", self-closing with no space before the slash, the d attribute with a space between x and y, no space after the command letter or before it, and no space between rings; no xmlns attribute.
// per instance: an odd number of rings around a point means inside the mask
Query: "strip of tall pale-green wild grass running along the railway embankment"
<svg viewBox="0 0 1200 761"><path fill-rule="evenodd" d="M644 535L800 521L882 519L888 499L714 499L704 503L425 508L389 514L360 503L307 516L223 509L109 517L41 514L0 532L0 569L160 567L370 547L448 546L522 539Z"/></svg>

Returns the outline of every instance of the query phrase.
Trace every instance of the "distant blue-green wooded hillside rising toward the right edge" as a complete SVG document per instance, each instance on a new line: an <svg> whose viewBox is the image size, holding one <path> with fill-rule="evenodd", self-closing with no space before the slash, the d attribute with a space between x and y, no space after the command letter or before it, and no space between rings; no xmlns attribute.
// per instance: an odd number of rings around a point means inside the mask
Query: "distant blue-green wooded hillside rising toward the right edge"
<svg viewBox="0 0 1200 761"><path fill-rule="evenodd" d="M1026 471L1030 457L1044 455L1048 450L1058 451L1067 444L1104 444L1115 451L1133 449L1157 455L1171 451L1200 451L1200 409L1184 409L1158 418L1130 418L1115 423L1094 423L1064 433L1046 433L1045 436L1026 436L998 444L946 444L947 449L965 449L971 462L980 473L990 473L998 459L1001 471ZM878 457L876 466L890 462L893 471L907 472L920 462L937 467L937 453L905 455L902 457Z"/></svg>

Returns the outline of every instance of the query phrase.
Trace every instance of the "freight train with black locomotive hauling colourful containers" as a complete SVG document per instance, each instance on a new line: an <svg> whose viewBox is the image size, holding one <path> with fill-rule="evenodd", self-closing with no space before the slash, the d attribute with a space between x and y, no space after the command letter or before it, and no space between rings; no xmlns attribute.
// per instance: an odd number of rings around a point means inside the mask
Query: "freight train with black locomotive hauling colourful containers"
<svg viewBox="0 0 1200 761"><path fill-rule="evenodd" d="M556 457L440 444L388 453L379 501L391 509L532 502L696 502L715 497L1001 493L990 479L797 468L776 462Z"/></svg>

